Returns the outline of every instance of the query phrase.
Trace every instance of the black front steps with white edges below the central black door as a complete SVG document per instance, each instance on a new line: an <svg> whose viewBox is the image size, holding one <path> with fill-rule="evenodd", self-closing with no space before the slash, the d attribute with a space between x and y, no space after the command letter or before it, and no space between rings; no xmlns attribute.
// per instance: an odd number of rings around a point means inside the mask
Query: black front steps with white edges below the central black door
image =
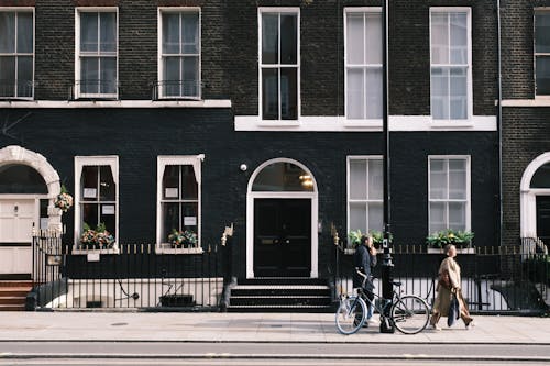
<svg viewBox="0 0 550 366"><path fill-rule="evenodd" d="M231 288L232 312L331 312L332 298L326 280L315 278L239 279Z"/></svg>

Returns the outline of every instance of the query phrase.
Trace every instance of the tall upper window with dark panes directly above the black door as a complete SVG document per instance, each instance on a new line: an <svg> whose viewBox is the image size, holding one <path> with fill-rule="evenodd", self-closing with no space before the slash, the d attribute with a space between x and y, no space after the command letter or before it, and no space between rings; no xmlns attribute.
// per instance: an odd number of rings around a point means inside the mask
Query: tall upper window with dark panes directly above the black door
<svg viewBox="0 0 550 366"><path fill-rule="evenodd" d="M297 120L299 95L297 11L261 11L260 40L262 119Z"/></svg>

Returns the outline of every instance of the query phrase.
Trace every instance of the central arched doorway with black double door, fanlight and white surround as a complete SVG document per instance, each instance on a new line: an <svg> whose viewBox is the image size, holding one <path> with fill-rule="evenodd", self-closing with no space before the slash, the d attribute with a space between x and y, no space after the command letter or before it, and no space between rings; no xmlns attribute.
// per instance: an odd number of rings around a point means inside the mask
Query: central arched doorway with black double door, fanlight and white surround
<svg viewBox="0 0 550 366"><path fill-rule="evenodd" d="M302 164L276 158L252 174L246 277L318 277L318 192Z"/></svg>

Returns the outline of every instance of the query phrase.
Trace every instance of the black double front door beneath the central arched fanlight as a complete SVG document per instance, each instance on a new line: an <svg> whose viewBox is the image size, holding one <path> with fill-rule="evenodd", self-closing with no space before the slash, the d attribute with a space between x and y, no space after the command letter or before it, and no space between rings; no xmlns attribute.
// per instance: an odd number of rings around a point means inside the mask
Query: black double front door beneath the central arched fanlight
<svg viewBox="0 0 550 366"><path fill-rule="evenodd" d="M254 276L309 277L311 200L254 200Z"/></svg>

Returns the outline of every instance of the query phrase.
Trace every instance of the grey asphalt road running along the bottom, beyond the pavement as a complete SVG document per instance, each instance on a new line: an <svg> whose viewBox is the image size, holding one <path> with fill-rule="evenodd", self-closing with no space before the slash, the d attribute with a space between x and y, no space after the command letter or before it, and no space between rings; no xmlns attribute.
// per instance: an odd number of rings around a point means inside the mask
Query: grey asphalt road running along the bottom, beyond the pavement
<svg viewBox="0 0 550 366"><path fill-rule="evenodd" d="M0 342L0 365L548 365L538 344Z"/></svg>

